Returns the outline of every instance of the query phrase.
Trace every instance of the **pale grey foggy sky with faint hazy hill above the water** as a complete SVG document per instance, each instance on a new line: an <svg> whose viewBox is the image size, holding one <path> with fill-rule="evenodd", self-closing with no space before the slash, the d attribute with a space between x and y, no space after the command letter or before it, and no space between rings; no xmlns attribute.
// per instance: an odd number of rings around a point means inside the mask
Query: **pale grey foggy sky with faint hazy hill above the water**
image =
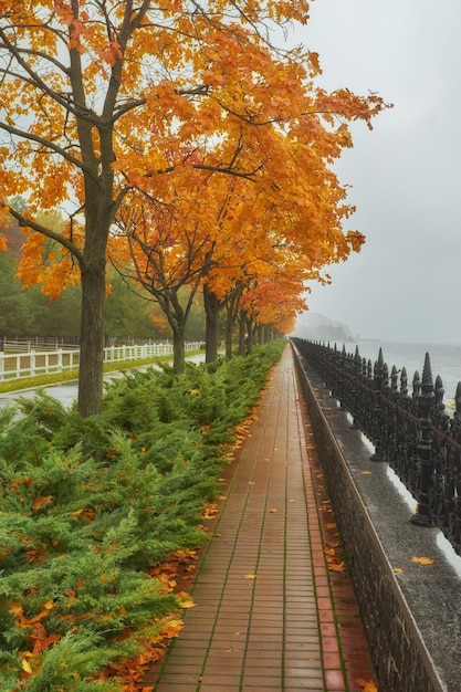
<svg viewBox="0 0 461 692"><path fill-rule="evenodd" d="M310 310L362 337L461 344L461 2L315 0L295 39L319 53L322 86L395 104L353 126L335 166L366 238L312 284ZM292 36L293 38L293 36Z"/></svg>

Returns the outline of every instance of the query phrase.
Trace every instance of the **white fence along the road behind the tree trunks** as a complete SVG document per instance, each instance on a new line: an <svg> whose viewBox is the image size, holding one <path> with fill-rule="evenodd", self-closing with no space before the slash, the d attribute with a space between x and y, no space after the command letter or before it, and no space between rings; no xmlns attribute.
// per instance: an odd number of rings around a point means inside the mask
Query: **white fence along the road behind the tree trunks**
<svg viewBox="0 0 461 692"><path fill-rule="evenodd" d="M186 353L198 350L200 342L185 345ZM134 346L109 346L104 349L104 363L122 363L124 360L147 360L159 356L170 356L171 344L143 344ZM57 350L4 354L0 352L0 381L50 375L78 368L80 350Z"/></svg>

